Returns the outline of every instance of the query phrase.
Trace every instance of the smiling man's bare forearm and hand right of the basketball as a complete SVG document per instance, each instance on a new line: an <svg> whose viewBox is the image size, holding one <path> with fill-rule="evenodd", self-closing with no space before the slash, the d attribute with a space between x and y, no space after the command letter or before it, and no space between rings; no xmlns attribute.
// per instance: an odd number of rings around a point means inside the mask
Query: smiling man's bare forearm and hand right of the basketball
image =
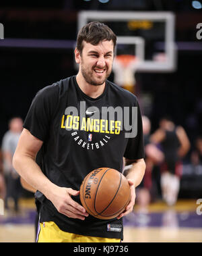
<svg viewBox="0 0 202 256"><path fill-rule="evenodd" d="M141 183L143 176L145 174L145 161L143 158L137 160L128 160L126 159L127 164L131 164L131 168L129 172L126 174L126 178L129 181L130 189L131 189L131 200L129 204L125 208L117 219L119 220L121 217L131 213L133 211L133 207L135 205L135 188Z"/></svg>

